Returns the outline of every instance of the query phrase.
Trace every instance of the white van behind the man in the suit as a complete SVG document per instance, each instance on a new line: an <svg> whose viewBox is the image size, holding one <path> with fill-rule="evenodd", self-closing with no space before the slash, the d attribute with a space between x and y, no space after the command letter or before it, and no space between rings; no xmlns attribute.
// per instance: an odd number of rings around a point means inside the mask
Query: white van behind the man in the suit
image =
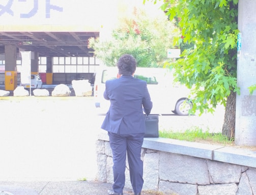
<svg viewBox="0 0 256 195"><path fill-rule="evenodd" d="M98 114L105 114L110 101L103 98L105 82L116 79L117 67L103 68L96 73L94 83L95 106ZM189 90L185 86L174 84L172 74L161 68L136 68L134 78L147 81L153 108L150 114L188 115L192 103L188 100Z"/></svg>

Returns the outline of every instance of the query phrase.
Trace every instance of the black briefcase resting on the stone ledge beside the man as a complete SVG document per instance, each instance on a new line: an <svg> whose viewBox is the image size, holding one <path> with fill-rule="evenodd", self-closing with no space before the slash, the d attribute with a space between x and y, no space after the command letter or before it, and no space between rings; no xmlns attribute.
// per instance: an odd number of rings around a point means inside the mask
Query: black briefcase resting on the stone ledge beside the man
<svg viewBox="0 0 256 195"><path fill-rule="evenodd" d="M146 131L144 138L158 138L158 115L144 115L145 116L145 124Z"/></svg>

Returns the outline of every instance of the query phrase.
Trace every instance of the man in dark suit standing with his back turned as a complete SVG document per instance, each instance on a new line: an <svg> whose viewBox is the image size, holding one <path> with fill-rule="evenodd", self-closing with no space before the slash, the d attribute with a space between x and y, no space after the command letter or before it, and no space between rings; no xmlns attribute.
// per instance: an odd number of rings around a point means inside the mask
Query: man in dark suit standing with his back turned
<svg viewBox="0 0 256 195"><path fill-rule="evenodd" d="M106 81L104 98L110 107L101 128L108 131L113 154L113 185L108 194L122 195L125 185L126 153L130 181L135 195L143 187L143 161L140 159L145 134L144 112L148 115L152 102L147 82L133 77L136 60L124 54L118 60L118 79Z"/></svg>

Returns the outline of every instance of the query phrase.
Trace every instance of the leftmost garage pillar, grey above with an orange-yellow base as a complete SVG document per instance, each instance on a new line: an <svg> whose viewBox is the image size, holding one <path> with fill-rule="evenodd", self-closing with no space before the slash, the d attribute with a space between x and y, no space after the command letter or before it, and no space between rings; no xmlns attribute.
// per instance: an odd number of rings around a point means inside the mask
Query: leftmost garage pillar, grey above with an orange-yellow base
<svg viewBox="0 0 256 195"><path fill-rule="evenodd" d="M16 45L5 46L5 90L14 90L17 87L16 50Z"/></svg>

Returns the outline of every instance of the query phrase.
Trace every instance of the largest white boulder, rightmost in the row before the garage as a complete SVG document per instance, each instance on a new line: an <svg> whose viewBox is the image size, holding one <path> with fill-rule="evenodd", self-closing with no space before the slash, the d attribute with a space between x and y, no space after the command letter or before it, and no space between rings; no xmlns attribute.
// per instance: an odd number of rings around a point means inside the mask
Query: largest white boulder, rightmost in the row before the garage
<svg viewBox="0 0 256 195"><path fill-rule="evenodd" d="M75 91L75 96L87 96L88 91L92 91L89 80L73 80L72 87Z"/></svg>

